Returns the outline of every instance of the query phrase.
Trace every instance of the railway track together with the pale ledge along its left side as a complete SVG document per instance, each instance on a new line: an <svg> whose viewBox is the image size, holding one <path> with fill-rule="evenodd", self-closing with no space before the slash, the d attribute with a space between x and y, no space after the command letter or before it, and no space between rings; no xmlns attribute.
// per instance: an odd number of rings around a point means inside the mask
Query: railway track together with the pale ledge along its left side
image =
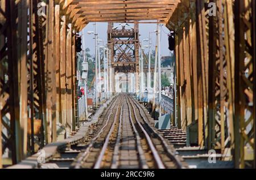
<svg viewBox="0 0 256 180"><path fill-rule="evenodd" d="M40 164L36 154L12 168L188 168L147 110L126 94L102 106L73 136L43 150L46 163Z"/></svg>

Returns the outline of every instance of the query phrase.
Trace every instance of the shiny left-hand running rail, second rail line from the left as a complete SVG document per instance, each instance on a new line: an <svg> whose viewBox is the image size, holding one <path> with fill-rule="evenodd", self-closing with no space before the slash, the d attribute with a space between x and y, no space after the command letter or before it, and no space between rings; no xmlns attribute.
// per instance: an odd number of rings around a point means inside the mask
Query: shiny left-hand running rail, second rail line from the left
<svg viewBox="0 0 256 180"><path fill-rule="evenodd" d="M104 142L104 145L103 147L101 148L101 152L100 152L100 156L98 156L98 159L96 161L96 164L94 165L94 169L100 169L101 167L101 162L102 162L102 159L104 157L104 154L106 152L106 149L108 148L108 144L109 144L109 139L110 139L110 136L112 135L113 131L114 131L114 127L115 127L115 122L117 121L117 114L118 114L118 107L119 107L119 102L118 101L118 105L117 105L117 111L115 112L115 118L114 118L114 122L113 122L113 125L112 127L110 128L110 131L109 131L109 134L107 136L107 138L105 139L105 142ZM123 109L123 100L121 102L121 113L122 113L122 109ZM119 115L119 120L120 120L120 117L121 115Z"/></svg>

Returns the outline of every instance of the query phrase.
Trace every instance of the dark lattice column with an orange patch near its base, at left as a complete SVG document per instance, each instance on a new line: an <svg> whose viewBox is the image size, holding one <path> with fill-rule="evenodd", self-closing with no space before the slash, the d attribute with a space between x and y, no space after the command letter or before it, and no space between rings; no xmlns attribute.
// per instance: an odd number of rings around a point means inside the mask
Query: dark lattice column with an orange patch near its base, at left
<svg viewBox="0 0 256 180"><path fill-rule="evenodd" d="M29 23L29 93L28 93L28 134L30 135L30 153L34 153L44 146L43 121L46 114L46 91L44 79L44 56L43 56L43 27L42 18L38 15L38 1L30 1ZM37 136L37 141L35 141Z"/></svg>

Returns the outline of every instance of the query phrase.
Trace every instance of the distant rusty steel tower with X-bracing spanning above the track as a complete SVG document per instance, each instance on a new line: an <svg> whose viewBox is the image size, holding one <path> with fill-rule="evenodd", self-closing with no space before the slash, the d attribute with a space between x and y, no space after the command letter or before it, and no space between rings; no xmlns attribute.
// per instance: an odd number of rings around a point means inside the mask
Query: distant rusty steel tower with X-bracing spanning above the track
<svg viewBox="0 0 256 180"><path fill-rule="evenodd" d="M114 74L133 72L135 74L135 89L139 91L139 26L120 24L114 27L114 23L108 25L108 44L110 48L111 68ZM113 75L115 84L115 76ZM111 89L115 92L115 87Z"/></svg>

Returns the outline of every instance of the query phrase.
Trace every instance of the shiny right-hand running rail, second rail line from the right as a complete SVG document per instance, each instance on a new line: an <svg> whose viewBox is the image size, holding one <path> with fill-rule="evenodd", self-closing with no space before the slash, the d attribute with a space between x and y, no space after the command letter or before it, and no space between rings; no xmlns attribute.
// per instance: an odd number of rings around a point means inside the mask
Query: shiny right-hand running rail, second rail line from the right
<svg viewBox="0 0 256 180"><path fill-rule="evenodd" d="M137 117L137 114L136 114L136 112L135 112L135 107L134 107L133 103L130 102L130 104L131 104L131 106L133 107L133 112L134 112L135 120L136 120L136 122L138 123L138 125L139 125L139 127L141 128L143 134L144 134L145 137L146 137L148 146L150 147L150 149L151 149L151 151L152 151L152 155L153 155L153 157L154 157L154 159L155 159L155 162L156 162L158 168L159 168L159 169L165 169L166 167L164 166L163 161L162 161L162 159L160 158L160 156L159 156L159 154L158 154L158 151L156 151L156 148L155 148L155 146L154 146L154 143L152 142L150 136L147 134L147 131L146 131L146 130L144 129L144 127L141 125L141 122L139 122L139 120L138 120L138 117Z"/></svg>

